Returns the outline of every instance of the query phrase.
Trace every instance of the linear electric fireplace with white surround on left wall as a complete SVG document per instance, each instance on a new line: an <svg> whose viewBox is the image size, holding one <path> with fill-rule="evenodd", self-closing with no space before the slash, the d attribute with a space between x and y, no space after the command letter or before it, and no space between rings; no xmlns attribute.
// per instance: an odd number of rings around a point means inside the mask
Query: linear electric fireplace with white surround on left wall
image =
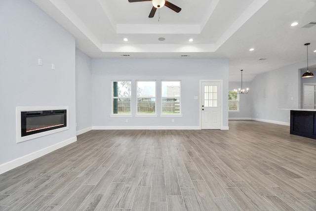
<svg viewBox="0 0 316 211"><path fill-rule="evenodd" d="M68 129L68 107L17 107L17 142Z"/></svg>

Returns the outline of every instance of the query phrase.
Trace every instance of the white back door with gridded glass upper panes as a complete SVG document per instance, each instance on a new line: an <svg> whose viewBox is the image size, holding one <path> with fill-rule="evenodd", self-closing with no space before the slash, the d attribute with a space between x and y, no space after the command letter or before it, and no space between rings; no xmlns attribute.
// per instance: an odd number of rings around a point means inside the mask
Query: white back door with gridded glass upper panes
<svg viewBox="0 0 316 211"><path fill-rule="evenodd" d="M201 82L201 128L221 128L221 83Z"/></svg>

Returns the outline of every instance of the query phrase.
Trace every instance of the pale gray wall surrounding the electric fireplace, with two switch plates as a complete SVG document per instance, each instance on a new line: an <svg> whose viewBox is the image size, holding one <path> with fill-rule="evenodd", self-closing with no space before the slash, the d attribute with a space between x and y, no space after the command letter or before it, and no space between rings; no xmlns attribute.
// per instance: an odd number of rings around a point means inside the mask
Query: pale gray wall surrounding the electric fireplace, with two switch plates
<svg viewBox="0 0 316 211"><path fill-rule="evenodd" d="M76 137L75 39L29 0L0 1L0 31L3 164ZM16 143L17 106L69 106L69 129Z"/></svg>

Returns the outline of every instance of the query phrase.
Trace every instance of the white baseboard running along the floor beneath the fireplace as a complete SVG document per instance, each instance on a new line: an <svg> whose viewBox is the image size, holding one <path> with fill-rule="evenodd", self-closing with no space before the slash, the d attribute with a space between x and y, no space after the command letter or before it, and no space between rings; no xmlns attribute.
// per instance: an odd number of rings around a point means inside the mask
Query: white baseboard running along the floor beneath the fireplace
<svg viewBox="0 0 316 211"><path fill-rule="evenodd" d="M37 158L40 158L43 155L46 155L46 154L48 154L48 153L50 153L52 151L55 151L56 149L59 149L61 147L64 147L64 146L66 146L68 144L71 144L73 142L76 142L76 141L77 141L77 136L73 137L73 138L70 138L70 139L67 139L65 141L59 142L59 143L54 144L52 146L46 147L44 149L40 149L39 151L30 153L30 154L25 155L23 157L14 159L14 160L9 161L7 163L1 164L0 165L0 174L6 172L8 170L14 169L16 167L19 167L19 166L21 166L23 164L26 164L26 163L28 163L30 161L33 161L33 160L35 160Z"/></svg>

